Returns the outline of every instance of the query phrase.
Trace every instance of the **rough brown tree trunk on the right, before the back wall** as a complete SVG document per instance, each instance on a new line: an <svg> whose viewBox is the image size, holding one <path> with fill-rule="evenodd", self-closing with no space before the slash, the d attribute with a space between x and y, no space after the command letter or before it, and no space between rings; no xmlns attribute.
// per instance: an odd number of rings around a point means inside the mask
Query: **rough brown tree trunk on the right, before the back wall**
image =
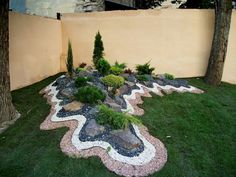
<svg viewBox="0 0 236 177"><path fill-rule="evenodd" d="M228 36L232 14L232 0L215 0L215 31L205 82L219 85L227 52Z"/></svg>

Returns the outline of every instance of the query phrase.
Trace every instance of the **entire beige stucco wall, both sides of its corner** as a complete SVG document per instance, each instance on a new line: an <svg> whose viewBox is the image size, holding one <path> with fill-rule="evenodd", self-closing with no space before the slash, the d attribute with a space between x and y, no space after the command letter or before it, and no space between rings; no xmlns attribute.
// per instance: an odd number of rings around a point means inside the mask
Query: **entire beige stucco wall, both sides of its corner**
<svg viewBox="0 0 236 177"><path fill-rule="evenodd" d="M99 30L105 58L134 68L151 60L156 73L203 76L213 36L211 10L148 10L63 14L62 20L10 12L10 77L15 90L65 71L68 39L74 65L91 64ZM236 83L236 11L223 81Z"/></svg>

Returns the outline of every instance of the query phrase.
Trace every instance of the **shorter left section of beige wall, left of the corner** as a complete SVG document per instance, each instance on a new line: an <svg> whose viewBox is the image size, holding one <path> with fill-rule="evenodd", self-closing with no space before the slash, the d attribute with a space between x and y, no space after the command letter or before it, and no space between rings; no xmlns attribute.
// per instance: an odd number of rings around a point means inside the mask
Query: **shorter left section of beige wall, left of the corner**
<svg viewBox="0 0 236 177"><path fill-rule="evenodd" d="M10 12L11 89L60 72L61 22Z"/></svg>

